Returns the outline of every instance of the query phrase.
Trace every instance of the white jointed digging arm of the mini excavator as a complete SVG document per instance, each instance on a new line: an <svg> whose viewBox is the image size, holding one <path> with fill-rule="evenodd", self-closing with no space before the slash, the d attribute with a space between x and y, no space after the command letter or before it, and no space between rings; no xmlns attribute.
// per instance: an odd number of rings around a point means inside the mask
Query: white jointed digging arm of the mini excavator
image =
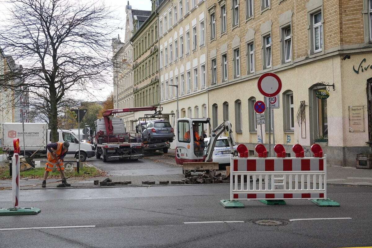
<svg viewBox="0 0 372 248"><path fill-rule="evenodd" d="M211 132L211 139L209 139L209 143L207 145L206 154L205 154L205 162L210 162L212 160L212 155L214 151L214 147L216 145L218 137L221 135L222 132L227 132L227 141L230 145L231 154L235 154L236 151L234 149L235 140L234 136L232 135L231 123L228 120L224 120L217 128L213 129Z"/></svg>

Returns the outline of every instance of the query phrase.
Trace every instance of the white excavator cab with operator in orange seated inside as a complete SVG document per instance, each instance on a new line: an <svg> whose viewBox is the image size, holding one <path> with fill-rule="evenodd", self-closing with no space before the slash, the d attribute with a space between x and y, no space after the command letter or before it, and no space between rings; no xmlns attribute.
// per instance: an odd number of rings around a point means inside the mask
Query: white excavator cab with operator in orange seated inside
<svg viewBox="0 0 372 248"><path fill-rule="evenodd" d="M176 163L204 162L204 131L210 129L210 118L177 119Z"/></svg>

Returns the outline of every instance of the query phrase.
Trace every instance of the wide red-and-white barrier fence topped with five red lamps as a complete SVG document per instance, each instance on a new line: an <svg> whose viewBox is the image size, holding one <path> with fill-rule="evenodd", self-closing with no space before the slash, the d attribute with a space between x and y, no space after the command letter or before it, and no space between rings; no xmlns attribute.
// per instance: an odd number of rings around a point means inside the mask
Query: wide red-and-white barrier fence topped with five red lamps
<svg viewBox="0 0 372 248"><path fill-rule="evenodd" d="M256 145L258 158L248 157L243 144L238 157L231 155L230 200L222 206L244 207L238 200L260 200L265 204L285 204L288 199L311 199L318 206L340 206L327 198L327 158L321 147L311 146L314 157L304 158L304 149L292 147L295 158L285 157L282 145L275 145L276 158L267 158L264 145Z"/></svg>

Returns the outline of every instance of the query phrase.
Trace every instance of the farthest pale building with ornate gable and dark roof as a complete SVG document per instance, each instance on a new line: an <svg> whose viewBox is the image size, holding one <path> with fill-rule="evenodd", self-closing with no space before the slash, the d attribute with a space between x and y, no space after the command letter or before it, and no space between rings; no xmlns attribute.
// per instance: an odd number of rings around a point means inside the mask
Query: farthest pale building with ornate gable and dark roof
<svg viewBox="0 0 372 248"><path fill-rule="evenodd" d="M124 42L120 37L113 39L113 95L114 108L134 107L134 70L133 70L133 47L130 39L134 31L141 28L144 21L150 16L151 11L132 9L128 4L125 6L125 37ZM127 131L135 128L135 113L119 113L119 118L123 118Z"/></svg>

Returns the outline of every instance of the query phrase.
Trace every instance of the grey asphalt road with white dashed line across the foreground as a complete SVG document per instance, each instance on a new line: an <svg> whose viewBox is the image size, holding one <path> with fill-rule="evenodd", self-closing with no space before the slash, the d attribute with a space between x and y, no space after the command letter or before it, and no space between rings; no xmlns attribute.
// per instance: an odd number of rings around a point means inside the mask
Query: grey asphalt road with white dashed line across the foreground
<svg viewBox="0 0 372 248"><path fill-rule="evenodd" d="M35 216L0 216L0 247L356 247L372 244L372 187L328 186L341 207L309 200L267 206L244 201L224 209L228 185L21 190L20 206ZM0 207L10 205L0 191ZM279 218L284 226L259 226L252 219ZM351 218L294 220L304 218ZM243 223L190 223L242 221ZM50 229L56 226L94 226ZM3 228L48 227L32 230Z"/></svg>

